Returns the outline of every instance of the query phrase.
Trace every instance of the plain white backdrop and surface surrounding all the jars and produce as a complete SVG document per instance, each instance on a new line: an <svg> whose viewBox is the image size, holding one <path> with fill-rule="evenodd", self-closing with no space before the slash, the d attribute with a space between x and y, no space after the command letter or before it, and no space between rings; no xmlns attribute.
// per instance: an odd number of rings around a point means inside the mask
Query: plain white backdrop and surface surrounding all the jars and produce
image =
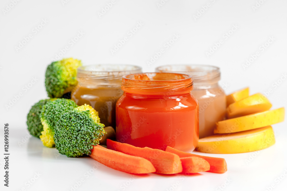
<svg viewBox="0 0 287 191"><path fill-rule="evenodd" d="M160 0L115 0L101 16L98 13L111 0L15 2L15 5L11 4L11 0L1 0L0 3L0 122L1 129L4 123L9 123L11 137L10 187L3 186L2 160L1 190L71 190L71 186L81 178L84 182L76 190L172 190L176 181L179 185L174 190L220 190L218 186L224 184L226 178L231 181L226 182L224 190L266 190L272 184L275 188L269 189L286 190L287 177L283 174L287 169L286 122L273 126L277 142L268 149L257 153L209 154L224 157L228 172L201 173L184 179L179 175L132 176L103 165L99 165L87 178L86 171L97 162L90 158L58 155L56 149L44 148L40 140L33 137L26 140L25 136L27 138L26 115L30 107L47 96L45 69L65 46L69 50L63 56L60 54L60 59L78 58L84 65L135 64L141 66L144 72L153 72L155 67L164 64L216 65L221 68L221 84L228 84L227 94L247 86L251 94L271 89L268 99L273 104L272 108L286 107L287 1L169 0L159 6L157 3ZM257 2L262 5L254 7ZM210 3L209 7L205 7L207 3ZM195 19L193 15L198 11L202 13ZM46 20L46 24L42 19ZM43 25L38 27L41 22ZM138 22L143 25L135 34L129 35L128 32ZM238 28L230 31L233 26ZM37 33L35 27L39 30ZM84 33L83 36L71 46L71 39L79 31ZM228 32L232 34L226 38L225 33ZM20 50L16 48L29 34L32 38L24 42L24 47ZM174 34L179 38L166 49L166 42ZM128 40L112 54L110 50L125 36ZM274 39L272 44L262 51L262 44L269 38ZM223 44L207 56L206 52L220 40ZM149 66L147 62L160 49L164 49L164 53ZM259 56L244 68L243 64L256 52ZM25 86L33 78L37 79L36 83L26 89ZM7 107L19 93L23 96ZM1 140L2 137L1 130ZM19 145L21 142L23 144ZM3 148L3 141L0 146ZM250 156L252 161L246 162ZM35 172L39 172L40 177L32 185L27 184ZM277 182L276 178L280 175L284 178Z"/></svg>

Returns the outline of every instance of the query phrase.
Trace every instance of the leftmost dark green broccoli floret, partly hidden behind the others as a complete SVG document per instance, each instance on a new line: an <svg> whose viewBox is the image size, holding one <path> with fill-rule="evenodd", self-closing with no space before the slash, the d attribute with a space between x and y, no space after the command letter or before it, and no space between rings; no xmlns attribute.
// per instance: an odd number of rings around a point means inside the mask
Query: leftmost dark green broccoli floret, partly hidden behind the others
<svg viewBox="0 0 287 191"><path fill-rule="evenodd" d="M42 107L48 102L54 99L42 99L38 103L32 106L27 115L28 131L34 137L40 138L41 131L43 131L43 125L41 123L41 110Z"/></svg>

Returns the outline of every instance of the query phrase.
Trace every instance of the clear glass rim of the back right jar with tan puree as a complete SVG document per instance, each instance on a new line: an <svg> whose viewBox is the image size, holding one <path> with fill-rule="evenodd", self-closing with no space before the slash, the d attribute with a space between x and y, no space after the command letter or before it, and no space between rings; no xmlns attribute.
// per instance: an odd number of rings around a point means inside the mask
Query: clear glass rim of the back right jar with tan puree
<svg viewBox="0 0 287 191"><path fill-rule="evenodd" d="M158 66L156 72L175 72L189 74L195 82L219 81L220 68L206 64L168 64Z"/></svg>

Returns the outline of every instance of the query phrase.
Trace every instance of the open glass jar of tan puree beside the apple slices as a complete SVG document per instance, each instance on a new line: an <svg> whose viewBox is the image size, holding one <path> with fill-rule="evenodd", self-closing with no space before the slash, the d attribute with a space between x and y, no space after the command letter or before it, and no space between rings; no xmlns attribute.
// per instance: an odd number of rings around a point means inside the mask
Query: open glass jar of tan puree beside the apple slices
<svg viewBox="0 0 287 191"><path fill-rule="evenodd" d="M165 65L156 72L189 74L193 78L191 94L199 104L199 138L213 135L216 122L222 121L226 113L226 95L219 86L220 69L208 65Z"/></svg>

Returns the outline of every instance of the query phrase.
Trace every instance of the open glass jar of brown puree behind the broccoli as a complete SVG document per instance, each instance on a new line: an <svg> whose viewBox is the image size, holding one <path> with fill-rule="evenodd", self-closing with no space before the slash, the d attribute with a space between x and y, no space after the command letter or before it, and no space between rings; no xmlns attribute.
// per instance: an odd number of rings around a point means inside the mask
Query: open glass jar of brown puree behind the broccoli
<svg viewBox="0 0 287 191"><path fill-rule="evenodd" d="M116 128L116 103L123 94L124 75L140 73L141 67L123 64L100 64L78 68L78 84L71 93L77 105L85 103L99 112L101 123Z"/></svg>

